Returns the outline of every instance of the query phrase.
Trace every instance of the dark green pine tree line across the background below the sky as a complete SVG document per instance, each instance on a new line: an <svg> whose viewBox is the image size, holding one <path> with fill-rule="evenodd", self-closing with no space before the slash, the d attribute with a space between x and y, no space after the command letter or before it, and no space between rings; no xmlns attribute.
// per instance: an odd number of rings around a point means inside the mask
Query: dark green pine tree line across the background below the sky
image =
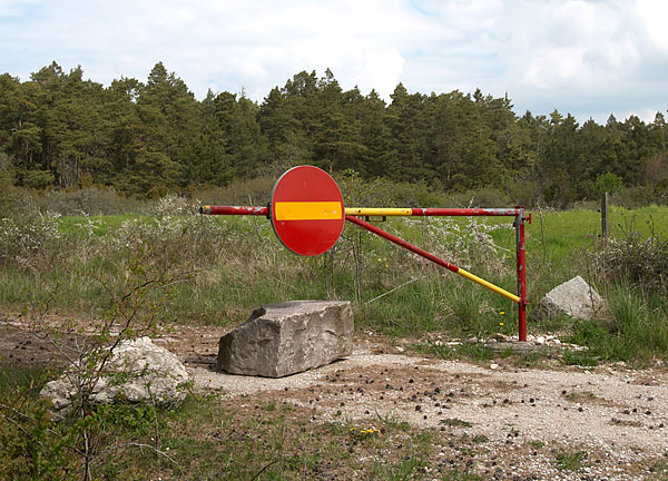
<svg viewBox="0 0 668 481"><path fill-rule="evenodd" d="M213 92L197 100L161 62L146 82L85 80L56 62L21 82L0 76L0 169L16 186L111 186L161 196L225 186L302 164L435 189L493 187L563 205L608 185L668 194L668 127L610 116L581 126L554 110L518 116L508 96L410 94L386 104L343 90L327 69L302 71L257 104ZM602 185L601 185L602 184Z"/></svg>

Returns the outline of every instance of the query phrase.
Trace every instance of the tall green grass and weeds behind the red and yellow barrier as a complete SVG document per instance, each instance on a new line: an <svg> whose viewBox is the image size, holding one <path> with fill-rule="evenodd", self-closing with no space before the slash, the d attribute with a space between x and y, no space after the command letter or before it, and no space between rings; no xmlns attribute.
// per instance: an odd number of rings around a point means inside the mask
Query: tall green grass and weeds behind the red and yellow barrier
<svg viewBox="0 0 668 481"><path fill-rule="evenodd" d="M129 227L128 220L132 222ZM90 229L88 222L94 226ZM511 223L511 218L391 218L379 225L514 292ZM620 238L631 229L641 236L657 233L665 237L668 208L615 207L611 225ZM332 254L318 257L287 252L269 223L255 217L68 216L58 219L58 226L59 238L48 240L40 251L19 252L2 265L0 306L6 311L22 311L27 303L57 288L53 310L95 315L105 306L102 283L122 278L138 246L145 246L157 256L171 253L170 268L194 274L169 296L156 294L165 322L236 325L261 304L333 298L353 301L361 328L392 336L420 337L438 331L455 337L484 337L517 332L512 302L353 225L346 225ZM597 277L591 252L600 245L599 230L600 216L593 210L533 213L533 224L527 225L530 308L547 291L579 274L609 297L611 320L587 325L554 318L530 324L529 332L572 331L572 341L589 345L591 356L600 361L665 356L666 296L636 292L632 285L606 284ZM477 240L472 232L481 237ZM485 244L484 238L493 244ZM469 345L454 351L458 356L466 356L466 351L488 355Z"/></svg>

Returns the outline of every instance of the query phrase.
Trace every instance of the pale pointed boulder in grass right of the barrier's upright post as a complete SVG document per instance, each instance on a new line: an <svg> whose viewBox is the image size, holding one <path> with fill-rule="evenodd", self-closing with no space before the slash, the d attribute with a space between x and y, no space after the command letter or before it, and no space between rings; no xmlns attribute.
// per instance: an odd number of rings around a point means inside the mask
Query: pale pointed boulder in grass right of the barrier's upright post
<svg viewBox="0 0 668 481"><path fill-rule="evenodd" d="M533 311L533 318L548 318L558 314L590 320L605 306L605 300L580 277L558 285L546 294Z"/></svg>

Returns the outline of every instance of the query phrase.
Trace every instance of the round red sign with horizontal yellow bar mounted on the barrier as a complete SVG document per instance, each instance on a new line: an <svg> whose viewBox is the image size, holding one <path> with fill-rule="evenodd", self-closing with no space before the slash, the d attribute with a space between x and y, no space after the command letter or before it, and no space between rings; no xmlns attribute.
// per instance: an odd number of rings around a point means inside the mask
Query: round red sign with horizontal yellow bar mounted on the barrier
<svg viewBox="0 0 668 481"><path fill-rule="evenodd" d="M341 236L343 196L330 175L298 166L281 176L272 190L272 227L288 249L301 255L327 252Z"/></svg>

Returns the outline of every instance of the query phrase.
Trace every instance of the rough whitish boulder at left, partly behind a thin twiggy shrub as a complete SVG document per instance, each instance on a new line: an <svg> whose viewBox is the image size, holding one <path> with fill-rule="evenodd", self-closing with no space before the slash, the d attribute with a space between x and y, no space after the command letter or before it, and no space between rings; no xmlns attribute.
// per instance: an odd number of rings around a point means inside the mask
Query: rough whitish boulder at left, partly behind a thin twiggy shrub
<svg viewBox="0 0 668 481"><path fill-rule="evenodd" d="M41 395L51 399L52 411L66 414L78 394L82 376L69 369L47 383ZM84 377L85 380L86 377ZM118 397L138 402L149 400L161 405L180 405L186 397L188 372L176 355L155 345L149 337L121 342L112 352L102 375L95 382L94 403L111 403Z"/></svg>

